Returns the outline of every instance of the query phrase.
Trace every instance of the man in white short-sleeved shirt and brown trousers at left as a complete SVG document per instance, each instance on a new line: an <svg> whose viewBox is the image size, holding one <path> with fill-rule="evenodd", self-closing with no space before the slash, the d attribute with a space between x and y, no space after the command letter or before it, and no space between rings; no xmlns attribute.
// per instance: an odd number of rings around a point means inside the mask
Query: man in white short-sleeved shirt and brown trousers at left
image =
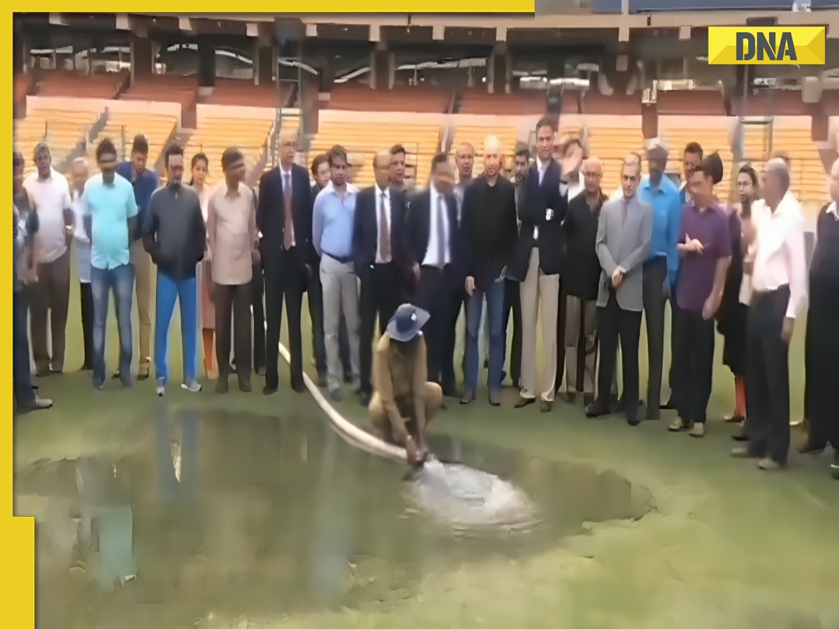
<svg viewBox="0 0 839 629"><path fill-rule="evenodd" d="M70 237L73 211L70 186L64 175L52 168L50 147L39 143L34 162L38 171L23 181L32 211L38 215L34 236L34 264L38 275L32 308L32 353L39 375L64 371L65 327L70 301ZM52 352L47 348L50 319Z"/></svg>

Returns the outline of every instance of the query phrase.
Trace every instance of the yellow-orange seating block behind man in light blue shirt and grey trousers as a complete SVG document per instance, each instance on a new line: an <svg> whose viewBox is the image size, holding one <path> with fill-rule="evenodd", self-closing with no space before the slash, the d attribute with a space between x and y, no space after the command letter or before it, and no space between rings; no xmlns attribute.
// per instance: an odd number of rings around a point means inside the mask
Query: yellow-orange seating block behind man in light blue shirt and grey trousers
<svg viewBox="0 0 839 629"><path fill-rule="evenodd" d="M373 185L373 158L393 144L402 144L405 148L406 177L414 179L416 185L426 185L431 158L440 146L440 127L388 122L320 122L320 130L310 145L309 161L318 153L327 153L335 144L347 149L353 185Z"/></svg>

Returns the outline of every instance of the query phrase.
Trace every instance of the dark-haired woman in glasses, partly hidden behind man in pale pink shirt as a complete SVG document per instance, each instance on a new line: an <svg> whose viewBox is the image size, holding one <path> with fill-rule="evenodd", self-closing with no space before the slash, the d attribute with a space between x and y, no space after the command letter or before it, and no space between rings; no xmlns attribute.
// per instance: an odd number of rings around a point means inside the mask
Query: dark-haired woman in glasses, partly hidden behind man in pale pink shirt
<svg viewBox="0 0 839 629"><path fill-rule="evenodd" d="M720 323L720 331L725 336L726 344L722 352L722 362L734 374L734 413L728 422L738 422L742 430L734 439L743 439L746 434L746 321L748 304L752 299L752 278L744 267L749 266L754 251L746 250L743 245L743 226L748 229L752 221L752 206L758 200L758 174L751 165L745 164L737 173L737 195L740 202L734 205L740 221L740 229L732 230L736 237L737 249L732 248L732 265L728 270L726 293L724 297L725 319ZM732 242L732 244L734 244ZM739 252L739 255L737 253ZM749 264L747 264L749 263Z"/></svg>

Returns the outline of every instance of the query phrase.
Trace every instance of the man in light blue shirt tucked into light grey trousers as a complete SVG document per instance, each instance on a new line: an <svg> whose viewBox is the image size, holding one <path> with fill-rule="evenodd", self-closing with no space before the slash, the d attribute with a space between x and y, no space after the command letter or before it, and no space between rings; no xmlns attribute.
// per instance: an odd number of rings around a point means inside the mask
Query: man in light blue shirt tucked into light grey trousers
<svg viewBox="0 0 839 629"><path fill-rule="evenodd" d="M315 199L312 211L312 244L320 256L323 286L323 331L326 345L326 386L333 400L341 400L341 356L338 329L341 313L347 321L352 388L361 389L358 355L358 278L352 263L352 230L358 189L347 184L347 151L334 146L329 152L331 181Z"/></svg>

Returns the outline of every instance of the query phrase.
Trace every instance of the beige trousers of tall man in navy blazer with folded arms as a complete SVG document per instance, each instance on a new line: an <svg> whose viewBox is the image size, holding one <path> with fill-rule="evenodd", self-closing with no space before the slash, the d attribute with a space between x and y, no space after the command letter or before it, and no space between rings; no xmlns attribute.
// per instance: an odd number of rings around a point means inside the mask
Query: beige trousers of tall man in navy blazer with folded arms
<svg viewBox="0 0 839 629"><path fill-rule="evenodd" d="M536 397L536 321L542 311L542 344L545 372L541 398L553 402L556 386L556 318L559 314L560 276L545 275L539 267L539 249L530 252L527 277L521 285L522 303L522 398Z"/></svg>

